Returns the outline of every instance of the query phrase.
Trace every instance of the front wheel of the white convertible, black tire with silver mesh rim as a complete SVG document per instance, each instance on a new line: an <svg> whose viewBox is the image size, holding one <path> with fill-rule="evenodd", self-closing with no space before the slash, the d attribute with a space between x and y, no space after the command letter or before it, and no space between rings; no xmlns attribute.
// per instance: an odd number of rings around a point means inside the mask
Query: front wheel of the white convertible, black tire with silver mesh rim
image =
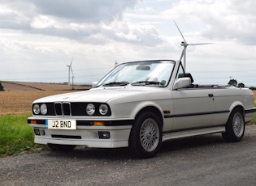
<svg viewBox="0 0 256 186"><path fill-rule="evenodd" d="M151 158L162 144L162 127L154 112L142 112L132 126L129 148L137 157Z"/></svg>

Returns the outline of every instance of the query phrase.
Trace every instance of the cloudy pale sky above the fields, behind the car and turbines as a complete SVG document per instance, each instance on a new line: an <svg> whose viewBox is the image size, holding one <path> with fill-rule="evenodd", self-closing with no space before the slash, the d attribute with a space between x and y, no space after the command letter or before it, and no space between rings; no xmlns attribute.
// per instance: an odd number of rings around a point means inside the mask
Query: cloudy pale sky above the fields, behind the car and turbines
<svg viewBox="0 0 256 186"><path fill-rule="evenodd" d="M0 81L99 81L126 61L179 60L198 84L256 87L254 0L0 0ZM72 80L71 80L72 81Z"/></svg>

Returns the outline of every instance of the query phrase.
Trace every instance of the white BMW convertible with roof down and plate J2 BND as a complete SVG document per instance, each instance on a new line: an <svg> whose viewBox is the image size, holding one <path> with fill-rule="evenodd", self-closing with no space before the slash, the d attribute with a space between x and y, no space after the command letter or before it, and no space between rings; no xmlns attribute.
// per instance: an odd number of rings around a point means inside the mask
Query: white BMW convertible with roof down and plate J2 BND
<svg viewBox="0 0 256 186"><path fill-rule="evenodd" d="M32 110L35 142L53 150L129 147L150 158L180 137L239 142L256 108L249 89L197 85L180 61L156 60L116 66L89 91L37 99Z"/></svg>

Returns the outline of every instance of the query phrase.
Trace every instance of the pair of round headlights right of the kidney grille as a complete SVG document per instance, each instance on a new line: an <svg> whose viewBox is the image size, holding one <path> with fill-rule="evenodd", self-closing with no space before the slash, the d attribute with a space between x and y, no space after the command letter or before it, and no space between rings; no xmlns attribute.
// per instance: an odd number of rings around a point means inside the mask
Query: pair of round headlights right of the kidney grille
<svg viewBox="0 0 256 186"><path fill-rule="evenodd" d="M86 113L89 116L98 115L97 113L99 113L101 116L106 116L106 115L109 115L109 112L110 112L110 109L107 106L107 104L99 104L99 105L87 104L86 106Z"/></svg>

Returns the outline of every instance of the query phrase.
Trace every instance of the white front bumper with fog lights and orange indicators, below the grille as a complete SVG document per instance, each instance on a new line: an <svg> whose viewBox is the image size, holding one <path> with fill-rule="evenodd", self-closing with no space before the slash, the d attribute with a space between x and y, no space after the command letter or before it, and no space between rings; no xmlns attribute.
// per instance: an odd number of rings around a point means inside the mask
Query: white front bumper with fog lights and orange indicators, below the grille
<svg viewBox="0 0 256 186"><path fill-rule="evenodd" d="M35 122L35 120L37 122ZM78 145L96 148L127 147L132 129L132 120L106 122L111 126L77 125L75 130L46 129L45 120L28 118L28 125L33 127L35 143ZM78 122L88 124L90 122ZM120 125L117 125L117 124Z"/></svg>

